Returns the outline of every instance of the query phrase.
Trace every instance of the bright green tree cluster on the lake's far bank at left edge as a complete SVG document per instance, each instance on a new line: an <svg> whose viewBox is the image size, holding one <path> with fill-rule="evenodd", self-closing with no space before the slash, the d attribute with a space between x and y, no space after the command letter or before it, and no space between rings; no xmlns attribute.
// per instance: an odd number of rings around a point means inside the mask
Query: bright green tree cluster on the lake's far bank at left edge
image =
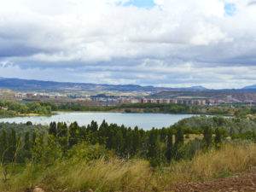
<svg viewBox="0 0 256 192"><path fill-rule="evenodd" d="M26 113L38 113L49 115L58 107L50 102L30 102L20 104L18 102L0 100L0 117L17 116Z"/></svg>

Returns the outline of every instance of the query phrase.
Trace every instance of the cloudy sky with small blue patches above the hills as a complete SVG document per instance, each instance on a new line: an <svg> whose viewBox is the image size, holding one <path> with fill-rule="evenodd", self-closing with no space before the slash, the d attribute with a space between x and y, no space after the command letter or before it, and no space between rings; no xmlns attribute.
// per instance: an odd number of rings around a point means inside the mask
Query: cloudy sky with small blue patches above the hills
<svg viewBox="0 0 256 192"><path fill-rule="evenodd" d="M0 77L256 84L256 0L0 0Z"/></svg>

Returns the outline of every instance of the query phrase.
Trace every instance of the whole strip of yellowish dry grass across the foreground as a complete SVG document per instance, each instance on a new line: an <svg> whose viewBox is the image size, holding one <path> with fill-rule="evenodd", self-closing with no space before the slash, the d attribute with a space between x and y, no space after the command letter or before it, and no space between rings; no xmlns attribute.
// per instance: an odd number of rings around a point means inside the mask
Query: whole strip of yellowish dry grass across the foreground
<svg viewBox="0 0 256 192"><path fill-rule="evenodd" d="M6 183L0 181L0 190L24 191L37 185L46 191L160 191L172 184L229 177L247 172L252 166L256 166L255 144L227 144L219 150L196 154L192 160L157 169L146 160L117 158L62 162L55 166L12 166L15 171L10 171ZM0 177L3 178L3 172Z"/></svg>

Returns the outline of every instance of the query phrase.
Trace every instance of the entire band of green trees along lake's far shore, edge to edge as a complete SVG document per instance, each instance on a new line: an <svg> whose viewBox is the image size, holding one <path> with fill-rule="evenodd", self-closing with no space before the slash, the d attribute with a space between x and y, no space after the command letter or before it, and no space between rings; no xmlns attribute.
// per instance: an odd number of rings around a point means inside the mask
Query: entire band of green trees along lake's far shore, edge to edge
<svg viewBox="0 0 256 192"><path fill-rule="evenodd" d="M52 111L94 111L94 112L125 112L125 113L188 113L209 115L235 115L245 118L247 114L255 114L256 108L217 108L186 104L164 103L134 103L122 104L112 107L88 107L76 103L55 104L51 102L30 102L20 104L17 102L0 100L0 118L15 117L36 113L50 115Z"/></svg>

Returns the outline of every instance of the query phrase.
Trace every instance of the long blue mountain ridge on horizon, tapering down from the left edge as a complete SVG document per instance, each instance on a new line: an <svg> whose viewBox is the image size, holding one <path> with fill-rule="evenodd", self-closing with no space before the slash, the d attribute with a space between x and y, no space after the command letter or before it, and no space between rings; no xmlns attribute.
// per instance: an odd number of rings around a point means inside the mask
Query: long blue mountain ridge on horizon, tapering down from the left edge
<svg viewBox="0 0 256 192"><path fill-rule="evenodd" d="M138 84L86 84L54 82L27 79L4 79L0 78L0 89L10 89L15 91L41 91L41 92L73 92L73 91L201 91L207 90L202 86L193 86L187 88L165 88L154 86L141 86Z"/></svg>

